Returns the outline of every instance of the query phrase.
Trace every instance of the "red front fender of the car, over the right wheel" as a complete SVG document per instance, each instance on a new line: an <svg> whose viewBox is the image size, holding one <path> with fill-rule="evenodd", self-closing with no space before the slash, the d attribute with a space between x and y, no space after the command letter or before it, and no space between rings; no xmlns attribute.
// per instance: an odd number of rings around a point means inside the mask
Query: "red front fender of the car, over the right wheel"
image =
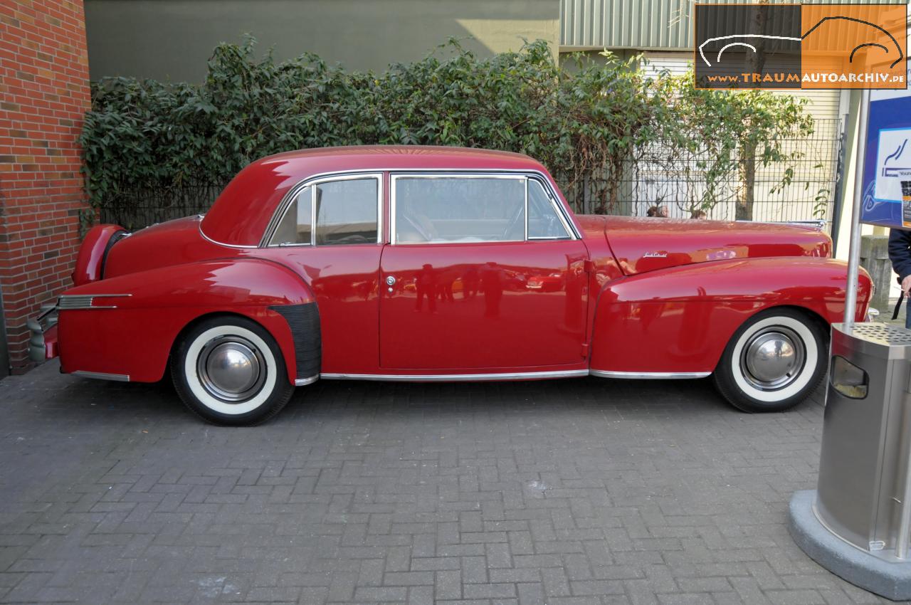
<svg viewBox="0 0 911 605"><path fill-rule="evenodd" d="M798 307L841 322L846 264L812 257L712 261L608 282L599 295L591 368L713 372L733 333L754 313ZM855 319L864 321L863 270Z"/></svg>

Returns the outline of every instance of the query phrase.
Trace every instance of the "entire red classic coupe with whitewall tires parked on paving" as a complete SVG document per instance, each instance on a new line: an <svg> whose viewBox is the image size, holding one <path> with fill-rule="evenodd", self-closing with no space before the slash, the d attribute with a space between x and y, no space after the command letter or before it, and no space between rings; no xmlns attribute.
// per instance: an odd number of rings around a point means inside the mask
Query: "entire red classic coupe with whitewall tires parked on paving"
<svg viewBox="0 0 911 605"><path fill-rule="evenodd" d="M574 216L515 153L292 151L204 216L90 231L44 349L80 376L170 370L224 425L320 378L711 374L733 405L776 411L825 374L846 279L831 250L802 227ZM867 275L859 288L862 321Z"/></svg>

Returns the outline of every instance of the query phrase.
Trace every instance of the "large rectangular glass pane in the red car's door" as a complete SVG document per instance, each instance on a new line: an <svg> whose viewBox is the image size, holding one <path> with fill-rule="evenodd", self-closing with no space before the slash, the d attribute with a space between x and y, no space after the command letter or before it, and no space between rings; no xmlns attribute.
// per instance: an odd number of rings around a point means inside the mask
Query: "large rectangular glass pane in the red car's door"
<svg viewBox="0 0 911 605"><path fill-rule="evenodd" d="M525 178L395 177L397 243L525 240Z"/></svg>

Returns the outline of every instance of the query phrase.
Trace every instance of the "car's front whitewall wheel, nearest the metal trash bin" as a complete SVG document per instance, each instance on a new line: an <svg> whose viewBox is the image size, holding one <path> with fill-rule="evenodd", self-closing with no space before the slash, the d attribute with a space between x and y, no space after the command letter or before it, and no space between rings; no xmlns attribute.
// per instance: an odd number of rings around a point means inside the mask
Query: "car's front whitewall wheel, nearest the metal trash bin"
<svg viewBox="0 0 911 605"><path fill-rule="evenodd" d="M771 309L734 333L712 378L744 412L781 412L819 386L826 359L822 326L805 313Z"/></svg>

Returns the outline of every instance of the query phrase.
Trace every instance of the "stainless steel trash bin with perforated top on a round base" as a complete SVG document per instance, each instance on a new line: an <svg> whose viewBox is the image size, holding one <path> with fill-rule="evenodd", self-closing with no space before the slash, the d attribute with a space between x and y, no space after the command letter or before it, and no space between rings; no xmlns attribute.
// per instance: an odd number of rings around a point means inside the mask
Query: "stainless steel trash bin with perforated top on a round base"
<svg viewBox="0 0 911 605"><path fill-rule="evenodd" d="M814 512L880 559L908 558L911 531L911 331L832 326Z"/></svg>

